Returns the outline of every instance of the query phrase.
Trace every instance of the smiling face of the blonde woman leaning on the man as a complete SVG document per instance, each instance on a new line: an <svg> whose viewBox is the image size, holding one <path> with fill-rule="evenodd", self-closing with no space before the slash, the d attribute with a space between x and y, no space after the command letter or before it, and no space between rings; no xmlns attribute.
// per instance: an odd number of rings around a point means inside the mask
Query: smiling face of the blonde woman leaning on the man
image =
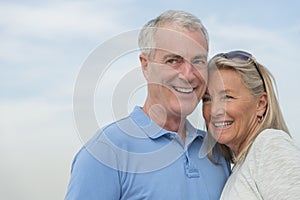
<svg viewBox="0 0 300 200"><path fill-rule="evenodd" d="M209 74L203 116L213 137L236 155L258 126L258 104L258 98L234 70L215 70Z"/></svg>

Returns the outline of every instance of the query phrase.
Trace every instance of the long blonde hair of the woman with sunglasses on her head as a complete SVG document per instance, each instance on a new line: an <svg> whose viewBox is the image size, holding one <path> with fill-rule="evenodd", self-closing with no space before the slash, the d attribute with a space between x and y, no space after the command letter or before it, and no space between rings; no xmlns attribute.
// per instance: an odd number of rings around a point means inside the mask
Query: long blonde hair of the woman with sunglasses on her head
<svg viewBox="0 0 300 200"><path fill-rule="evenodd" d="M251 54L247 53L247 55ZM241 150L237 157L234 157L232 151L224 144L217 143L214 147L219 149L227 160L239 163L244 160L255 138L263 130L269 128L279 129L288 134L289 131L276 97L274 89L276 88L275 79L268 69L259 64L252 56L245 61L238 58L227 58L226 54L215 56L208 63L208 73L220 69L233 70L240 74L243 83L254 97L258 97L264 92L267 95L267 108L260 120L259 128L251 135L248 144ZM212 137L211 134L209 134L209 137ZM209 157L212 160L212 152L209 153Z"/></svg>

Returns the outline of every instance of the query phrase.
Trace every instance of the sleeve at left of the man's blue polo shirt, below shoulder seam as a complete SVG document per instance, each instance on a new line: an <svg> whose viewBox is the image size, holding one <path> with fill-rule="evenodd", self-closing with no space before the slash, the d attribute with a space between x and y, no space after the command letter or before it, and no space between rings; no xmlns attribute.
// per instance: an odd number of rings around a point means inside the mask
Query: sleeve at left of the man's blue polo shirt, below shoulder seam
<svg viewBox="0 0 300 200"><path fill-rule="evenodd" d="M96 159L86 148L74 158L65 200L120 199L118 171Z"/></svg>

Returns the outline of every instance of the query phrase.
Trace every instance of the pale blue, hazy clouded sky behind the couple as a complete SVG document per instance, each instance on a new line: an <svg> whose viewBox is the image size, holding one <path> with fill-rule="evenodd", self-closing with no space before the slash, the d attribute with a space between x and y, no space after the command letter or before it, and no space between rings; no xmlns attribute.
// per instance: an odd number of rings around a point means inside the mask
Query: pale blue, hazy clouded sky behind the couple
<svg viewBox="0 0 300 200"><path fill-rule="evenodd" d="M169 9L201 19L210 57L247 50L273 73L300 146L299 8L298 0L0 0L0 198L64 198L72 159L93 131L143 103L134 34ZM94 61L106 67L94 75L94 110L87 117L96 120L89 127L76 95ZM122 93L128 85L130 94ZM200 109L191 120L201 128Z"/></svg>

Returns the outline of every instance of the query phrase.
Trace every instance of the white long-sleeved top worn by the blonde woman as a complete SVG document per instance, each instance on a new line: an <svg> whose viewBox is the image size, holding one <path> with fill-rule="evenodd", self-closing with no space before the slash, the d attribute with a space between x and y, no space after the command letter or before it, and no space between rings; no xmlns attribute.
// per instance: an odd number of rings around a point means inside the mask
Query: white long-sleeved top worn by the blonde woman
<svg viewBox="0 0 300 200"><path fill-rule="evenodd" d="M300 199L300 148L283 131L267 129L233 168L221 199Z"/></svg>

